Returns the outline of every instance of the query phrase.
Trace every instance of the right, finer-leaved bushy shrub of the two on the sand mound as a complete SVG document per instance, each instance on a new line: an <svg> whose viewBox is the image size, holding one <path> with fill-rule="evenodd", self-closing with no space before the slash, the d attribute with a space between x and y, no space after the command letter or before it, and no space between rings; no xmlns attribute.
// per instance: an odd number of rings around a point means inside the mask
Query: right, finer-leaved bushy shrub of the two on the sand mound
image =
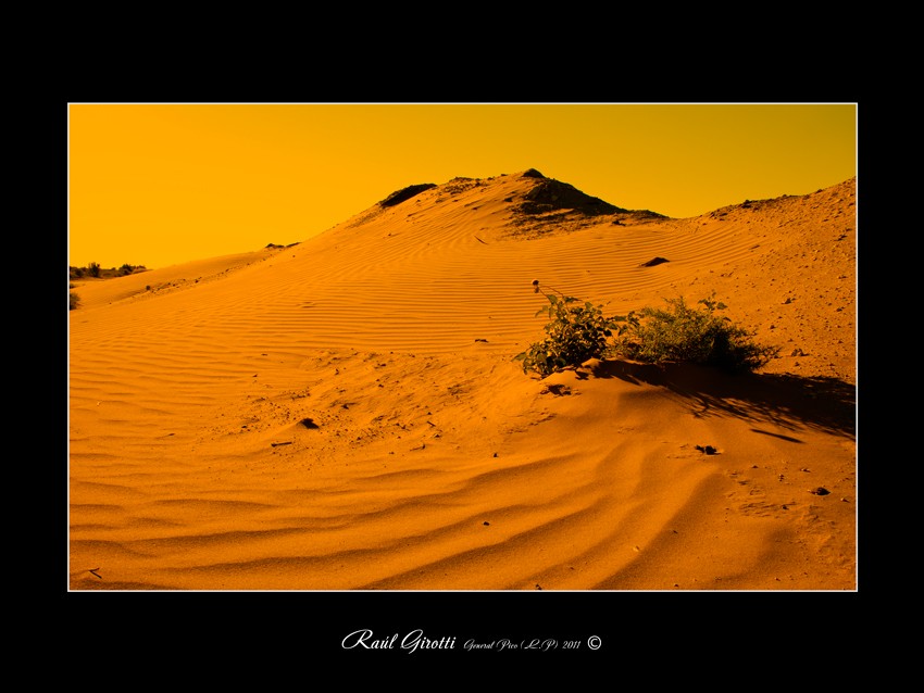
<svg viewBox="0 0 924 693"><path fill-rule="evenodd" d="M727 306L712 298L690 307L683 297L665 299L667 310L644 307L626 316L612 353L644 363L694 363L726 370L757 370L779 354L758 344L752 332L716 311Z"/></svg>

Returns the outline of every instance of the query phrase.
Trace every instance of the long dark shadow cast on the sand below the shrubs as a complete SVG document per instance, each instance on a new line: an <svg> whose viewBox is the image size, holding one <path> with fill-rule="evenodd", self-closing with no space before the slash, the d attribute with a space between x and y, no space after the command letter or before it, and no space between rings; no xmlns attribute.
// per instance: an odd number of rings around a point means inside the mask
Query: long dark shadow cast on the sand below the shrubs
<svg viewBox="0 0 924 693"><path fill-rule="evenodd" d="M838 378L728 374L707 366L655 366L617 360L587 366L580 370L589 370L595 378L619 378L665 388L687 404L695 416L738 417L752 421L754 432L789 442L802 441L796 434L785 436L759 426L771 424L794 433L809 428L856 440L857 388Z"/></svg>

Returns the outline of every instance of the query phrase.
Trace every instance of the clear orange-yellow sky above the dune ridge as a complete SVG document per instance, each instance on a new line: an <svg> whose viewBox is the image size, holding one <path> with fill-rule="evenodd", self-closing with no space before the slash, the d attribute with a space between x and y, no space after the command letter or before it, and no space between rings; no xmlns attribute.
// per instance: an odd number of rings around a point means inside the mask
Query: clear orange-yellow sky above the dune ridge
<svg viewBox="0 0 924 693"><path fill-rule="evenodd" d="M688 217L857 175L857 104L68 108L70 263L162 267L305 240L420 182L537 168Z"/></svg>

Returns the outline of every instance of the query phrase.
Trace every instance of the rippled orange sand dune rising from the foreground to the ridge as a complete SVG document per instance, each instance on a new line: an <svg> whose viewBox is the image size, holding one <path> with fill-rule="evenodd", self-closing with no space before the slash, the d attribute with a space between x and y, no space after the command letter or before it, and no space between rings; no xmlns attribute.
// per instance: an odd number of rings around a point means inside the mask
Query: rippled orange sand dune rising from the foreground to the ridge
<svg viewBox="0 0 924 693"><path fill-rule="evenodd" d="M856 181L670 219L537 173L78 287L70 589L856 589ZM539 379L533 280L715 291L781 357Z"/></svg>

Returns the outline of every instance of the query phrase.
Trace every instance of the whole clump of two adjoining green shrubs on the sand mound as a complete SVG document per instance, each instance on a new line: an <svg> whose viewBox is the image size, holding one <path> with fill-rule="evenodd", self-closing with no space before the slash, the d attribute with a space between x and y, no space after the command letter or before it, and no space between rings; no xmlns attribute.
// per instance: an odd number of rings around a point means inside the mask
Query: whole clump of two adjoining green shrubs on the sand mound
<svg viewBox="0 0 924 693"><path fill-rule="evenodd" d="M644 307L625 316L604 316L601 305L539 288L550 305L537 315L550 318L546 339L517 354L523 371L544 378L588 358L619 356L642 363L694 363L731 371L752 371L779 354L778 346L762 345L753 335L732 324L717 311L727 307L714 295L690 307L683 297L667 299L667 308Z"/></svg>

